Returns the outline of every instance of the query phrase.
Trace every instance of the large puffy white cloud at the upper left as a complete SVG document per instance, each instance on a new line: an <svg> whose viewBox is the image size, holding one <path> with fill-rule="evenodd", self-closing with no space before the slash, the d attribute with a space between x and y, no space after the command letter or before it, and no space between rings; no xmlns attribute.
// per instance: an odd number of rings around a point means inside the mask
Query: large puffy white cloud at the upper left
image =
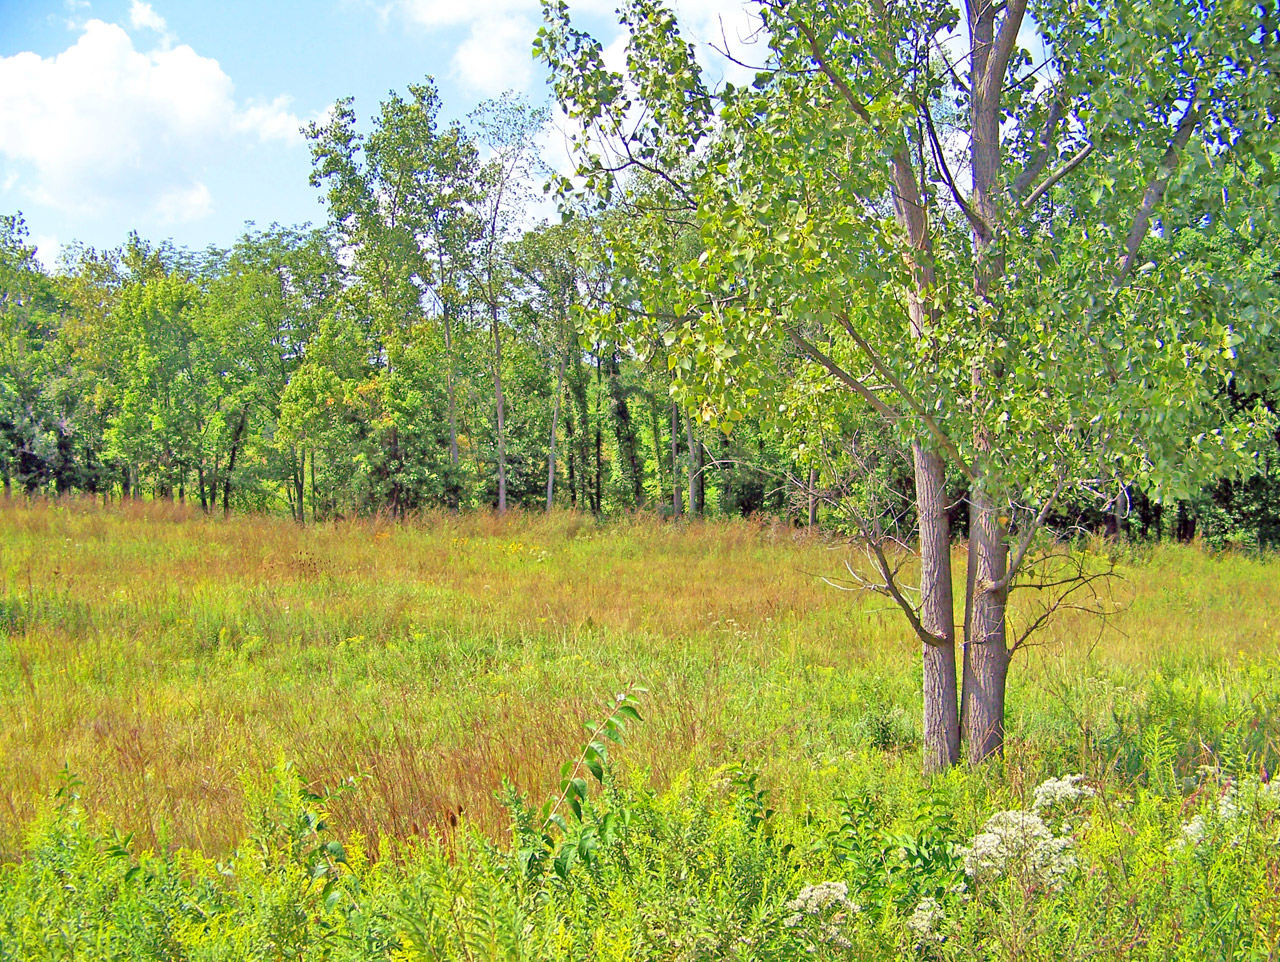
<svg viewBox="0 0 1280 962"><path fill-rule="evenodd" d="M165 23L134 3L131 22ZM51 58L0 58L0 177L76 215L150 210L174 221L212 207L200 170L218 146L297 143L288 99L241 105L230 77L187 45L143 52L119 26L88 20Z"/></svg>

